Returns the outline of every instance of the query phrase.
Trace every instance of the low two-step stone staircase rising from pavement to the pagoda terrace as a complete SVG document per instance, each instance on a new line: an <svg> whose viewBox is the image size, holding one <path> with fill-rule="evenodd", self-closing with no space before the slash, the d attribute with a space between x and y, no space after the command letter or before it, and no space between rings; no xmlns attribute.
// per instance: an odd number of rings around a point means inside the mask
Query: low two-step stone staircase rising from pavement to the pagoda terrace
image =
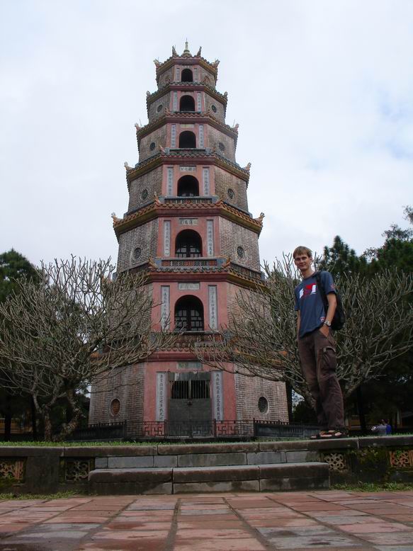
<svg viewBox="0 0 413 551"><path fill-rule="evenodd" d="M136 445L106 448L89 472L96 494L329 489L319 442ZM321 448L332 442L323 442Z"/></svg>

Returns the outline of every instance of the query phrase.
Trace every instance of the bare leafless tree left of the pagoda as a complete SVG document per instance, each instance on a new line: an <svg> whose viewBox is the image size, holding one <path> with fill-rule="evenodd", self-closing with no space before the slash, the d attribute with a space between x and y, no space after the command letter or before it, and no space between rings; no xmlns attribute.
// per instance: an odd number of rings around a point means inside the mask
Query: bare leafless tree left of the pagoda
<svg viewBox="0 0 413 551"><path fill-rule="evenodd" d="M55 261L41 283L18 282L0 305L1 384L33 396L52 438L50 413L66 397L73 416L55 437L79 424L79 392L109 370L127 368L164 348L176 335L151 331L152 297L145 274L113 280L110 261Z"/></svg>

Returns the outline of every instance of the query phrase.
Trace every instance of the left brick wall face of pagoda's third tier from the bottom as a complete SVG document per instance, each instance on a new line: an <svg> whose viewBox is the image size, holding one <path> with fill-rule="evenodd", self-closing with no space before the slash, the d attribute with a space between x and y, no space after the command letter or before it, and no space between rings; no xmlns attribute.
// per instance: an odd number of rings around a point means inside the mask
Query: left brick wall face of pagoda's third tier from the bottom
<svg viewBox="0 0 413 551"><path fill-rule="evenodd" d="M119 237L118 273L157 256L158 220L130 229ZM140 251L137 251L140 249Z"/></svg>

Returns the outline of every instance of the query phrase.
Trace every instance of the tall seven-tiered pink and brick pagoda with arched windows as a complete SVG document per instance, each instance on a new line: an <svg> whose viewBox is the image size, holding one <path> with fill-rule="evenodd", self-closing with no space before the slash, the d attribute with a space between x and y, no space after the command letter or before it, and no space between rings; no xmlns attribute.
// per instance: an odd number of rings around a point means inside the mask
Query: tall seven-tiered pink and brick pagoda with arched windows
<svg viewBox="0 0 413 551"><path fill-rule="evenodd" d="M248 211L251 165L235 160L238 125L225 123L227 92L215 88L219 61L208 62L201 49L192 55L186 42L181 55L173 47L154 64L149 122L135 125L139 162L125 163L128 211L113 217L117 271L147 273L154 331L162 326L180 336L172 350L99 382L89 422L126 421L133 438L288 421L283 382L216 370L191 353L191 341L230 326L239 315L237 294L261 281L264 215Z"/></svg>

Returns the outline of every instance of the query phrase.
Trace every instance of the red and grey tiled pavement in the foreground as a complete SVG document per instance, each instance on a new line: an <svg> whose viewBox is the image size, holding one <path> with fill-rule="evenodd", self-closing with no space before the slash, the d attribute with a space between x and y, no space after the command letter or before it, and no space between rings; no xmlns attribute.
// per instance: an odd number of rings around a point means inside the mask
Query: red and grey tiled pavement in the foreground
<svg viewBox="0 0 413 551"><path fill-rule="evenodd" d="M413 492L0 501L0 551L413 550Z"/></svg>

